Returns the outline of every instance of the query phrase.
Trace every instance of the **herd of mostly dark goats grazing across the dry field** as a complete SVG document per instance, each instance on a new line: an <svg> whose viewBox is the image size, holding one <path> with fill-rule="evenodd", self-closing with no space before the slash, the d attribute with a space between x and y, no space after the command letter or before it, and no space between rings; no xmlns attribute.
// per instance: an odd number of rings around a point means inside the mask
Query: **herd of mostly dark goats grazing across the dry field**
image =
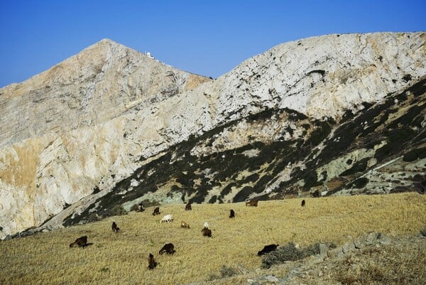
<svg viewBox="0 0 426 285"><path fill-rule="evenodd" d="M258 205L258 200L249 200L246 201L246 206L253 206L253 207L257 207ZM305 206L305 200L302 200L302 207ZM143 209L143 205L139 204L138 208L136 209L136 212L143 212L145 209ZM185 210L192 210L192 206L191 203L187 203L185 205ZM153 215L160 215L160 207L156 207L153 210ZM229 218L234 218L235 217L235 212L234 210L230 210L229 213ZM173 215L165 215L161 220L161 222L173 222ZM190 225L188 225L186 222L181 221L180 222L180 227L182 228L190 228ZM112 222L111 225L111 230L113 232L119 232L120 228L117 227L116 222ZM212 230L209 229L209 224L207 222L204 222L203 225L203 229L201 230L202 235L204 237L212 237ZM90 245L91 243L87 243L87 236L84 237L79 237L77 240L75 240L75 242L72 242L70 244L70 247L87 247L88 245ZM268 252L273 252L274 250L277 249L279 244L268 244L265 247L263 247L263 249L261 251L258 252L258 256L260 257L263 254L267 254ZM168 243L168 244L164 244L163 248L160 249L160 251L158 252L158 254L174 254L175 251L175 246L172 243ZM155 262L154 256L153 254L149 254L148 256L148 269L154 269L157 266L157 262Z"/></svg>

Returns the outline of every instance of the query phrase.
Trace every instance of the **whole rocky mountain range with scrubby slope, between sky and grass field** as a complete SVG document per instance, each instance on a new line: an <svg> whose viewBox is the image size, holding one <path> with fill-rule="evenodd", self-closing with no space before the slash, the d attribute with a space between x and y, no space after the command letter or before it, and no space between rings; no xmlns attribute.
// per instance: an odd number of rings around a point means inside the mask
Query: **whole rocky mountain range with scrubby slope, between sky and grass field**
<svg viewBox="0 0 426 285"><path fill-rule="evenodd" d="M92 45L0 90L1 235L138 203L425 189L425 41L307 38L216 80Z"/></svg>

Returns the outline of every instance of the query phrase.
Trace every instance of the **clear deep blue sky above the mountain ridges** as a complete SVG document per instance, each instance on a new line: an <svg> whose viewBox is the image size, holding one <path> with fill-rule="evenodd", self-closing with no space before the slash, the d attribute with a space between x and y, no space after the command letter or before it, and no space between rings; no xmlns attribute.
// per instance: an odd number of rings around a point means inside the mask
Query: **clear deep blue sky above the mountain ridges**
<svg viewBox="0 0 426 285"><path fill-rule="evenodd" d="M102 38L218 77L280 43L380 31L426 31L426 0L0 0L0 87Z"/></svg>

